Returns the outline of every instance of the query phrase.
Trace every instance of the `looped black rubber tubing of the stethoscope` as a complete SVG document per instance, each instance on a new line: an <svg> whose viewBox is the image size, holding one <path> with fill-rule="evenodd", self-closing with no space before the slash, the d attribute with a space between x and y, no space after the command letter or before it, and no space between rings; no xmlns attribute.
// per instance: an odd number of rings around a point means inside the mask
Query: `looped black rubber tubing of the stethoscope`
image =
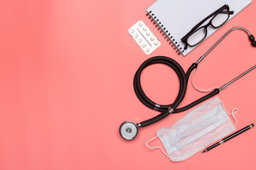
<svg viewBox="0 0 256 170"><path fill-rule="evenodd" d="M140 77L141 77L142 71L151 64L166 64L167 66L174 69L174 71L176 72L176 74L178 76L180 87L179 87L179 91L178 91L178 96L176 97L176 100L174 101L174 103L171 103L169 105L159 105L159 104L155 103L154 101L151 101L146 96L146 94L144 94L144 91L142 90L142 86L140 84ZM187 106L184 106L183 108L177 108L177 106L181 103L181 101L183 101L183 98L186 94L188 79L191 75L191 72L193 72L193 69L196 69L197 66L198 66L198 64L193 63L191 65L191 67L189 67L188 71L185 74L181 65L169 57L164 57L164 56L151 57L142 63L142 65L139 67L139 69L137 70L137 72L134 76L135 94L139 98L139 101L141 101L146 107L161 112L159 115L156 115L154 118L145 120L142 123L140 123L142 128L147 125L151 125L152 123L156 123L157 121L165 118L170 113L181 113L183 111L186 111L189 108L196 106L198 103L206 101L208 98L211 98L220 92L219 89L214 89L210 94L207 94L206 96L203 96L202 98L199 98L198 100L194 101L193 103L190 103ZM171 109L173 109L174 111L170 112Z"/></svg>

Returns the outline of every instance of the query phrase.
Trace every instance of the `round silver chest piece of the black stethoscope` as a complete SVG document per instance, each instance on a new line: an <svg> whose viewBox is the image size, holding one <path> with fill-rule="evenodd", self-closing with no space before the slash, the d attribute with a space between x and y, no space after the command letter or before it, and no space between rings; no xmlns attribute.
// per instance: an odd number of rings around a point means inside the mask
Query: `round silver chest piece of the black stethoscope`
<svg viewBox="0 0 256 170"><path fill-rule="evenodd" d="M138 126L132 121L125 121L119 128L119 133L124 140L133 140L137 137L138 131Z"/></svg>

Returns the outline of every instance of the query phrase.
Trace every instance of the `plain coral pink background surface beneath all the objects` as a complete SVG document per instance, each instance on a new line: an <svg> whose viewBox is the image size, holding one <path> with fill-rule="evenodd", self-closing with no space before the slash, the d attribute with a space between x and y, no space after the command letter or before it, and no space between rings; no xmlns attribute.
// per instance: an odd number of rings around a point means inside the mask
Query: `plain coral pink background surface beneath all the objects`
<svg viewBox="0 0 256 170"><path fill-rule="evenodd" d="M255 169L256 128L183 162L145 146L188 111L142 129L136 140L119 136L124 120L139 123L158 114L134 94L134 73L144 60L164 55L187 70L230 28L256 35L253 1L196 50L178 56L145 16L154 1L0 1L1 170ZM162 42L151 55L127 33L140 19ZM196 86L222 86L255 65L255 52L245 33L230 33L199 64ZM256 70L218 95L227 111L238 108L237 130L256 123L255 77ZM172 69L159 64L144 70L142 86L161 104L174 101L178 91ZM181 106L204 95L189 82Z"/></svg>

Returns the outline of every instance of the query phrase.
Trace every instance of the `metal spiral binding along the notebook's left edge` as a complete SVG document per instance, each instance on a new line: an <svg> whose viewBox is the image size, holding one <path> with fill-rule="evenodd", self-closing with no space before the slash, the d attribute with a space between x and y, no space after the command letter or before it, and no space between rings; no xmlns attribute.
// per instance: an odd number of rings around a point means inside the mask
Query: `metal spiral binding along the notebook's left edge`
<svg viewBox="0 0 256 170"><path fill-rule="evenodd" d="M176 42L173 36L171 36L171 33L168 33L168 30L166 30L164 25L161 24L161 22L159 22L159 19L157 19L156 16L154 16L154 13L152 13L152 11L149 11L146 13L146 16L149 16L149 19L151 19L153 25L156 25L157 30L161 29L160 33L162 34L162 36L164 36L164 39L167 38L166 41L169 42L169 45L171 45L171 47L174 47L176 53L178 53L178 55L182 54L184 52L184 50L182 50L182 47L178 45L178 42Z"/></svg>

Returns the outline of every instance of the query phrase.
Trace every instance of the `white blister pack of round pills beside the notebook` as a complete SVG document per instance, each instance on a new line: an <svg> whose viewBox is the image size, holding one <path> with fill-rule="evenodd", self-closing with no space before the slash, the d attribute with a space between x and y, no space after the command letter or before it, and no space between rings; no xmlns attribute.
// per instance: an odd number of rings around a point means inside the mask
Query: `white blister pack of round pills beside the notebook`
<svg viewBox="0 0 256 170"><path fill-rule="evenodd" d="M161 42L156 38L156 36L151 32L151 30L146 26L146 24L140 20L129 28L128 33L137 42L139 47L149 55L151 52L156 50Z"/></svg>

